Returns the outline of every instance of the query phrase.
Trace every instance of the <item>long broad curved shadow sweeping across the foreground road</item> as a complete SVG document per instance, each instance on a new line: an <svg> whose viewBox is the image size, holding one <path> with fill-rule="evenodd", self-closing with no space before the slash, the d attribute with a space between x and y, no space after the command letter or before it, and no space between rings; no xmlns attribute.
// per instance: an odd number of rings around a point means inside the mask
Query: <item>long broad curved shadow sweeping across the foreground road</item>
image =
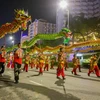
<svg viewBox="0 0 100 100"><path fill-rule="evenodd" d="M53 89L49 89L47 87L43 86L36 86L31 84L25 84L25 83L19 83L18 85L15 85L17 88L24 88L27 90L31 90L33 92L40 93L42 95L47 96L50 100L80 100L79 98L73 96L72 94L61 94ZM41 98L42 99L42 98Z"/></svg>

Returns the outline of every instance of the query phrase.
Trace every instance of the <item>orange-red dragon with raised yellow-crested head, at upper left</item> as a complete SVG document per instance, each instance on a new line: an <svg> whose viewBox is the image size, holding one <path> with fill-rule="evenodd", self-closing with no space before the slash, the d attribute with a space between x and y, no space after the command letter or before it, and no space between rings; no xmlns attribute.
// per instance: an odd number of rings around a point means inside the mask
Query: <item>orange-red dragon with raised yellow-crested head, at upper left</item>
<svg viewBox="0 0 100 100"><path fill-rule="evenodd" d="M15 10L15 19L12 23L6 23L0 27L0 38L6 34L16 33L19 29L26 30L27 23L31 21L31 16L24 10Z"/></svg>

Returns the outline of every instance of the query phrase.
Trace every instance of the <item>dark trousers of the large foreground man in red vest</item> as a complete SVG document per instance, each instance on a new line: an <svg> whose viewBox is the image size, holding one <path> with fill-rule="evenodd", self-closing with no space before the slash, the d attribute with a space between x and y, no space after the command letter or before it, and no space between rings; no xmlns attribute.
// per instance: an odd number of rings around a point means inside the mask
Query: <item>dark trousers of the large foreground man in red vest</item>
<svg viewBox="0 0 100 100"><path fill-rule="evenodd" d="M20 68L21 64L14 63L14 78L16 82L19 80Z"/></svg>

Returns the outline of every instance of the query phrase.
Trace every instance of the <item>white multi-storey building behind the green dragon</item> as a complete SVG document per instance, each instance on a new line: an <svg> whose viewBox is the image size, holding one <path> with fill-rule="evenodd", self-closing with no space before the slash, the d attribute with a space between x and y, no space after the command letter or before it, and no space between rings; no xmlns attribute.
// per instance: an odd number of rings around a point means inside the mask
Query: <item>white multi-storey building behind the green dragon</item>
<svg viewBox="0 0 100 100"><path fill-rule="evenodd" d="M37 34L53 34L56 32L56 24L48 23L43 19L35 19L28 27L28 36L24 36L21 38L21 41L24 42L27 39L31 40Z"/></svg>

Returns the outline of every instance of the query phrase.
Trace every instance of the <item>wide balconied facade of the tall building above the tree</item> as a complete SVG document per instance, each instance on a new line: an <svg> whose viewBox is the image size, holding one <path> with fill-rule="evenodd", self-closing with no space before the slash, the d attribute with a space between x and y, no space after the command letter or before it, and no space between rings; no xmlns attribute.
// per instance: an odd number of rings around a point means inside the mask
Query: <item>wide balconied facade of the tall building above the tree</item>
<svg viewBox="0 0 100 100"><path fill-rule="evenodd" d="M84 14L85 18L100 17L100 0L67 0L72 16Z"/></svg>

